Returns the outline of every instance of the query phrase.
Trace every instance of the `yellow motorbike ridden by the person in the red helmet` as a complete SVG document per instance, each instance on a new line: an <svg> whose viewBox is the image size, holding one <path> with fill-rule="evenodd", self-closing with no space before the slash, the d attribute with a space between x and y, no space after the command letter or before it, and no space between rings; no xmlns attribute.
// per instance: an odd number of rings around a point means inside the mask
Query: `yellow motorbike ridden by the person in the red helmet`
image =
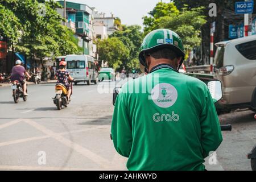
<svg viewBox="0 0 256 182"><path fill-rule="evenodd" d="M72 81L73 82L73 81ZM71 90L73 90L73 85L71 84ZM52 98L53 103L57 106L58 110L61 110L62 107L68 107L68 89L63 84L56 84L55 85L55 97ZM72 92L71 92L72 95Z"/></svg>

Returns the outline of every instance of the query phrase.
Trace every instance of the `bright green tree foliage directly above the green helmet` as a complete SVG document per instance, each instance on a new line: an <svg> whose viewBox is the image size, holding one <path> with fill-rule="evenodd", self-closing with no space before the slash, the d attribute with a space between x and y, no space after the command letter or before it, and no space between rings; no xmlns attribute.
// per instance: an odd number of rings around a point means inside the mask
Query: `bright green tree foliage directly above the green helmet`
<svg viewBox="0 0 256 182"><path fill-rule="evenodd" d="M143 18L144 35L158 28L168 28L180 36L186 51L191 50L201 42L200 28L206 23L203 10L203 7L189 9L188 6L177 10L173 2L159 2L150 16Z"/></svg>

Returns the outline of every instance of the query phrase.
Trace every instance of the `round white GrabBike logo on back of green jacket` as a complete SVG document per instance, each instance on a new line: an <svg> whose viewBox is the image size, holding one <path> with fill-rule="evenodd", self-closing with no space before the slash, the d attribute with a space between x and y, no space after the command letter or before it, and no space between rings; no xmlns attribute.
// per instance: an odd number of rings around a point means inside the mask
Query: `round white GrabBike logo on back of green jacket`
<svg viewBox="0 0 256 182"><path fill-rule="evenodd" d="M155 85L151 90L151 100L159 107L171 107L177 100L177 90L167 83Z"/></svg>

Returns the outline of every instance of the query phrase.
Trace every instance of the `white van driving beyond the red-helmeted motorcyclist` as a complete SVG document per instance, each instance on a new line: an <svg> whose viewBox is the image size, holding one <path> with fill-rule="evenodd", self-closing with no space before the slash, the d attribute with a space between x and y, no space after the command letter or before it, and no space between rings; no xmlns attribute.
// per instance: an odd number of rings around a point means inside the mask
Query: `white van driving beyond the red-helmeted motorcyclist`
<svg viewBox="0 0 256 182"><path fill-rule="evenodd" d="M94 58L88 55L67 55L67 70L75 78L75 85L78 82L91 82L97 84L97 72L94 65Z"/></svg>

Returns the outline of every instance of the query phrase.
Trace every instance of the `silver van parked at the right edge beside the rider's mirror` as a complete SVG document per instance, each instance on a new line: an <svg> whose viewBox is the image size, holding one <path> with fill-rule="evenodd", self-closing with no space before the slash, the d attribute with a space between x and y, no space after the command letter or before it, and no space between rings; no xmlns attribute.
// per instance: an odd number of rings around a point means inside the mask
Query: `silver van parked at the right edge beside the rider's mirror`
<svg viewBox="0 0 256 182"><path fill-rule="evenodd" d="M225 109L256 111L256 35L219 42L214 57L214 77L222 82Z"/></svg>

